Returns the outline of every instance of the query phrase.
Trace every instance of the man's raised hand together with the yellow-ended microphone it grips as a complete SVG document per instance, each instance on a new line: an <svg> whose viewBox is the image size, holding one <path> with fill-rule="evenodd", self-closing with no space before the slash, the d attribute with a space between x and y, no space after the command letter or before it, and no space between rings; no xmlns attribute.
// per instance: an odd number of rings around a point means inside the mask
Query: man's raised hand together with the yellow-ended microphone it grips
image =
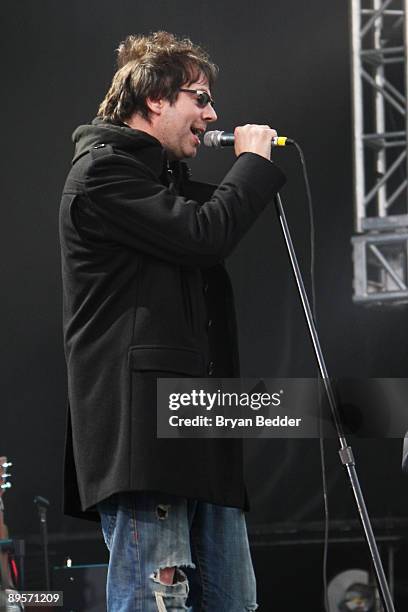
<svg viewBox="0 0 408 612"><path fill-rule="evenodd" d="M290 138L278 136L276 130L269 125L242 125L236 127L234 133L214 130L204 135L204 144L207 147L235 147L235 154L257 153L270 159L272 146L285 146L293 144Z"/></svg>

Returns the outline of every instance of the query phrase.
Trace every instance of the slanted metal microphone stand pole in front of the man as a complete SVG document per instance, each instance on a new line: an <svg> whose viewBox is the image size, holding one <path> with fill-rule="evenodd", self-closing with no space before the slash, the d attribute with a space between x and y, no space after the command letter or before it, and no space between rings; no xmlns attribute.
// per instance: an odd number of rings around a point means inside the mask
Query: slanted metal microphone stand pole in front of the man
<svg viewBox="0 0 408 612"><path fill-rule="evenodd" d="M339 417L339 412L337 408L337 402L335 399L333 387L329 378L329 374L326 368L326 363L324 361L322 349L320 346L319 337L316 331L316 326L313 320L312 311L310 309L309 300L307 297L307 293L303 284L302 274L300 272L299 264L296 258L296 253L293 247L292 238L289 232L289 227L286 221L285 212L283 210L282 201L280 195L277 194L275 199L275 205L277 214L279 217L279 222L282 227L283 236L286 243L286 248L288 251L290 263L292 265L292 271L295 276L296 285L299 292L299 297L302 302L303 313L306 317L307 326L309 329L310 338L312 340L313 349L315 352L316 360L319 366L320 376L322 377L324 389L327 395L327 399L329 402L329 406L332 413L333 423L337 432L337 437L340 444L339 455L343 466L347 470L347 474L350 480L351 488L353 490L354 499L357 505L357 509L360 515L361 523L364 529L365 538L370 550L371 559L373 561L375 574L377 577L378 586L380 588L380 593L382 600L384 602L385 608L387 612L395 612L394 604L392 602L390 589L387 584L387 580L384 573L384 568L382 566L381 558L378 552L377 543L374 538L374 533L371 527L370 518L368 516L367 507L365 505L363 492L360 487L360 483L358 480L357 472L356 472L356 464L354 461L353 451L351 447L348 445L347 440L344 436L341 420Z"/></svg>

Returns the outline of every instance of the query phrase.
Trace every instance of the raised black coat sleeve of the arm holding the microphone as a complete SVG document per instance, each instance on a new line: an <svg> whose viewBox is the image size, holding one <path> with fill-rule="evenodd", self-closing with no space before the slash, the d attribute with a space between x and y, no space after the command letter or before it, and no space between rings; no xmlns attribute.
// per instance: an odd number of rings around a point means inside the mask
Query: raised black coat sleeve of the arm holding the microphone
<svg viewBox="0 0 408 612"><path fill-rule="evenodd" d="M245 153L200 205L174 194L136 159L112 152L88 169L86 205L106 240L172 263L210 266L231 252L284 182L272 162Z"/></svg>

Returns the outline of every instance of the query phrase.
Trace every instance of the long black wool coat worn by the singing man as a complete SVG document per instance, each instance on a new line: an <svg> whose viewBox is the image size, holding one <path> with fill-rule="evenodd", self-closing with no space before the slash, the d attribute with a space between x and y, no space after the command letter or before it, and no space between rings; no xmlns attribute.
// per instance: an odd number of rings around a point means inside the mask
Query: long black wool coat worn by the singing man
<svg viewBox="0 0 408 612"><path fill-rule="evenodd" d="M68 371L65 511L121 491L247 507L240 440L156 438L156 377L237 376L223 259L284 183L245 153L213 192L159 141L94 120L60 208Z"/></svg>

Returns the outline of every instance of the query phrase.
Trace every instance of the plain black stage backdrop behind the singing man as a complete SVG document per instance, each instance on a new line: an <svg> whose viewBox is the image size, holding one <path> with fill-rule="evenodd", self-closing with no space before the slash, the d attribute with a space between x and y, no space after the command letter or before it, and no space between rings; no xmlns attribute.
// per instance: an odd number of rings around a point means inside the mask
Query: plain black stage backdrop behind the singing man
<svg viewBox="0 0 408 612"><path fill-rule="evenodd" d="M0 15L0 451L14 461L14 487L6 499L14 534L38 532L36 494L51 501L53 534L73 537L94 529L63 517L60 509L66 380L57 215L72 153L70 135L94 116L114 71L114 49L128 33L167 29L210 51L221 69L214 90L215 128L269 123L302 144L316 216L318 328L329 370L337 377L406 375L407 307L367 309L351 299L347 2L21 0L4 1ZM308 279L300 164L294 150L276 151L274 157L288 175L282 196ZM216 182L232 160L229 150L202 150L191 164L194 177ZM228 265L243 373L313 376L310 342L273 209L263 214ZM359 441L354 447L374 516L406 515L400 447L398 440ZM250 442L247 458L251 524L322 518L316 442ZM327 444L327 462L332 515L354 518L334 443ZM78 554L87 560L91 552Z"/></svg>

